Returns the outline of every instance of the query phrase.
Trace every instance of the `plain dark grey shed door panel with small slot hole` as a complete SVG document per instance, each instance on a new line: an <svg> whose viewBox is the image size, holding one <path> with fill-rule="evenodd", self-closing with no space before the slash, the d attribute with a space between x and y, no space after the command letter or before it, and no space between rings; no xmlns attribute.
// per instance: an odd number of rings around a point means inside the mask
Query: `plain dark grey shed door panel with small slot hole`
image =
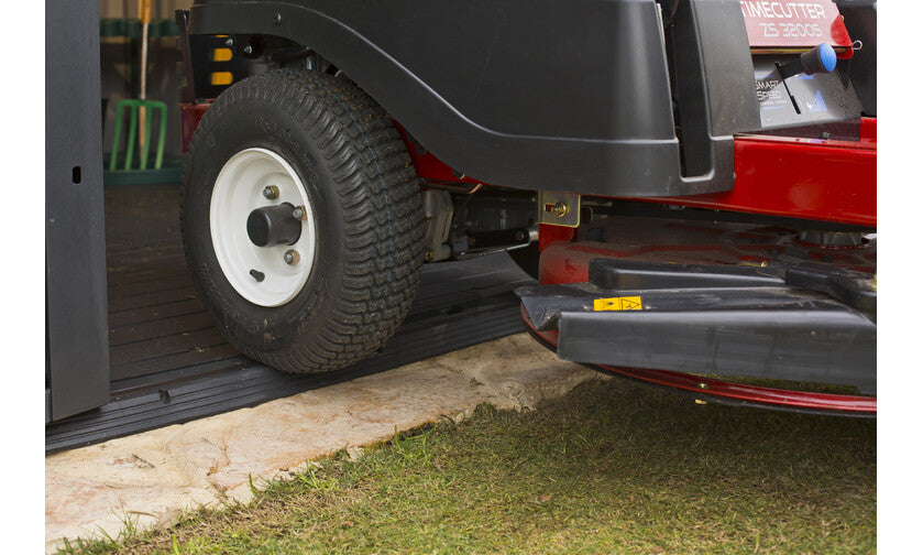
<svg viewBox="0 0 923 555"><path fill-rule="evenodd" d="M109 401L99 4L46 8L46 417L58 420Z"/></svg>

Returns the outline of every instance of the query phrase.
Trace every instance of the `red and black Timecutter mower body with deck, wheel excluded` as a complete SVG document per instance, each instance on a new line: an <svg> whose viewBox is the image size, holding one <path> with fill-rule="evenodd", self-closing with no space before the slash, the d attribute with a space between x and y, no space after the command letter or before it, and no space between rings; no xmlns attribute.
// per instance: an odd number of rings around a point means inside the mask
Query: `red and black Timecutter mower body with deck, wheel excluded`
<svg viewBox="0 0 923 555"><path fill-rule="evenodd" d="M532 265L524 319L562 358L700 401L875 414L873 6L460 6L197 1L184 145L223 90L209 72L348 76L421 179L426 261ZM239 50L197 65L216 40Z"/></svg>

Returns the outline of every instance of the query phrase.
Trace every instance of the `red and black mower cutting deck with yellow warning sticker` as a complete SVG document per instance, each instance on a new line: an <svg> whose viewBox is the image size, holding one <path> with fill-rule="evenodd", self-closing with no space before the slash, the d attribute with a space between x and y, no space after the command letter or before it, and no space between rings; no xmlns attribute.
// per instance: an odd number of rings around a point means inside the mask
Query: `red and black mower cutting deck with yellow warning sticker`
<svg viewBox="0 0 923 555"><path fill-rule="evenodd" d="M832 246L844 238L857 244ZM875 243L859 231L604 218L547 246L541 285L517 294L532 335L562 359L724 402L873 415Z"/></svg>

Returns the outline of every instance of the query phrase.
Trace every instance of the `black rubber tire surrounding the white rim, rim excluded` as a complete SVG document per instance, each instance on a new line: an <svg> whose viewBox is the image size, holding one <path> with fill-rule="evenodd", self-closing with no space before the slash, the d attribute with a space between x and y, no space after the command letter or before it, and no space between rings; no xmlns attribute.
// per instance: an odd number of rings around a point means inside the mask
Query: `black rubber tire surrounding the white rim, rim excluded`
<svg viewBox="0 0 923 555"><path fill-rule="evenodd" d="M281 306L253 304L234 290L209 228L218 173L253 148L285 159L315 215L314 266ZM190 141L182 197L199 297L244 355L289 372L336 370L384 346L407 315L424 259L418 181L387 115L349 80L272 70L230 87Z"/></svg>

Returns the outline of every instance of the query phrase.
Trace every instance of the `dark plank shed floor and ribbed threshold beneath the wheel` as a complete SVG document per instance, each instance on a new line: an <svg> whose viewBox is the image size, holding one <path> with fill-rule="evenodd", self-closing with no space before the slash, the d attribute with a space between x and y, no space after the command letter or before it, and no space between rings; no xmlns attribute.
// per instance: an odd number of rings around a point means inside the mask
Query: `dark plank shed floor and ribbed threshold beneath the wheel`
<svg viewBox="0 0 923 555"><path fill-rule="evenodd" d="M505 253L426 265L410 314L376 357L315 377L240 355L198 300L177 184L106 188L112 401L46 427L47 451L252 406L521 331L513 290L534 283Z"/></svg>

